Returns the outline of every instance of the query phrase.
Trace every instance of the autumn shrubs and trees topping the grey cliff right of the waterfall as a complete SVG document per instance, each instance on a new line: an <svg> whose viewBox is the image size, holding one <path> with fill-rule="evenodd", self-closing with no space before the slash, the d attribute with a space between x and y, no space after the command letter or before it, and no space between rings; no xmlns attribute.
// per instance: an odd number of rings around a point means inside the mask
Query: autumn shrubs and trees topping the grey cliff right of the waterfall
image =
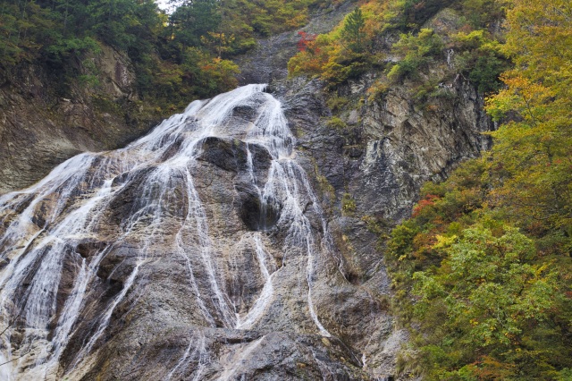
<svg viewBox="0 0 572 381"><path fill-rule="evenodd" d="M439 30L424 29L445 7L448 12L432 22ZM498 77L509 67L493 28L501 15L501 1L370 0L331 33L307 41L290 60L290 75L315 75L335 89L364 72L381 72L372 98L406 82L420 104L446 95L439 84L458 75L490 92L500 89ZM455 55L445 59L451 50Z"/></svg>

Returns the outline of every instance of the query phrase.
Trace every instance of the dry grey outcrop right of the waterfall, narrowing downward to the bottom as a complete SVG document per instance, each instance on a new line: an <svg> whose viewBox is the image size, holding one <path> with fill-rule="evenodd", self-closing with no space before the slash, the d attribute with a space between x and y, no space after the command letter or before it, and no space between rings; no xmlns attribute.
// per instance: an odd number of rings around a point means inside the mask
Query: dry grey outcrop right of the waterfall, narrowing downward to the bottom
<svg viewBox="0 0 572 381"><path fill-rule="evenodd" d="M444 180L458 163L489 148L483 132L493 125L484 114L484 98L466 80L455 80L450 96L429 109L416 106L407 89L366 100L373 80L366 76L340 89L349 103L337 111L343 128L328 123L333 113L318 80L284 81L273 91L298 138L299 160L330 211L329 226L348 279L374 295L380 310L374 318L357 318L357 311L371 307L353 294L332 305L332 314L345 318L345 334L366 355L369 374L383 377L394 373L408 334L394 326L379 235L410 215L423 182Z"/></svg>

